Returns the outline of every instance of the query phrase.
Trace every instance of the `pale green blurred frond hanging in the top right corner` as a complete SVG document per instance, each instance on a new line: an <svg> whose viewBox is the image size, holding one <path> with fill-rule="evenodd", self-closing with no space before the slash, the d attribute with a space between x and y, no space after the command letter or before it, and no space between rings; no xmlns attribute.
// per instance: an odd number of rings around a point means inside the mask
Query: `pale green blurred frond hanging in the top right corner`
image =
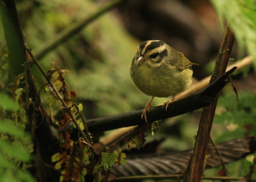
<svg viewBox="0 0 256 182"><path fill-rule="evenodd" d="M211 0L220 25L224 18L236 36L240 47L246 47L248 53L256 57L256 11L254 0ZM256 67L256 61L254 61Z"/></svg>

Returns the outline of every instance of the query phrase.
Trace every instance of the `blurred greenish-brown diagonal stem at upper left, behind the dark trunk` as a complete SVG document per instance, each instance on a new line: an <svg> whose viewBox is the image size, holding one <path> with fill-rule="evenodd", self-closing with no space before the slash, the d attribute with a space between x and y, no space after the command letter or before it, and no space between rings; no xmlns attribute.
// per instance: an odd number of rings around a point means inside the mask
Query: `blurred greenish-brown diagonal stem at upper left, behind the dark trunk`
<svg viewBox="0 0 256 182"><path fill-rule="evenodd" d="M82 30L84 28L84 26L88 25L93 20L98 18L100 15L107 12L108 10L110 10L111 8L115 7L116 5L120 4L123 1L124 0L113 0L111 2L108 2L104 5L102 5L93 14L66 27L60 33L57 33L51 40L47 41L41 47L37 48L34 51L34 56L36 57L36 59L41 59L48 52L52 51L54 48L56 48L58 45L60 45L60 43L64 42L65 40L70 38L72 35L78 33L80 30Z"/></svg>

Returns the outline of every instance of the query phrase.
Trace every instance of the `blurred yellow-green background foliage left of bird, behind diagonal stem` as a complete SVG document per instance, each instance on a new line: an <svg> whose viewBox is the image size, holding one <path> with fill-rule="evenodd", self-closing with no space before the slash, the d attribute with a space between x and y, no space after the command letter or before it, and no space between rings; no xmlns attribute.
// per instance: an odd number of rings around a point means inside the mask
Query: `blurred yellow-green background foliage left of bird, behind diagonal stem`
<svg viewBox="0 0 256 182"><path fill-rule="evenodd" d="M99 4L90 0L77 0L72 4L42 0L40 6L17 2L18 12L23 15L21 26L25 42L33 47L32 52L69 22L79 21L98 7ZM130 77L129 66L139 44L118 18L106 13L39 61L45 70L52 61L61 68L68 68L67 83L76 90L78 100L93 103L95 116L120 114L142 109L150 98L137 89ZM31 69L40 89L44 78L36 67ZM87 108L84 112L88 112Z"/></svg>

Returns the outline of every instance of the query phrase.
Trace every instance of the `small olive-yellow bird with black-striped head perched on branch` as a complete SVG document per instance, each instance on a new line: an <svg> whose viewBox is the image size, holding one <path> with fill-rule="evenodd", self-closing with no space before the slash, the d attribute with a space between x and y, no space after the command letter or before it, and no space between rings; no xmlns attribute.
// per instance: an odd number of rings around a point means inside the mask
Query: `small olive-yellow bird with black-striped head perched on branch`
<svg viewBox="0 0 256 182"><path fill-rule="evenodd" d="M147 110L154 97L169 97L165 109L174 102L176 94L186 91L192 83L192 63L184 54L178 52L163 40L146 40L141 42L132 60L130 75L134 84L144 94L151 96L142 112L147 121ZM198 65L198 64L197 64Z"/></svg>

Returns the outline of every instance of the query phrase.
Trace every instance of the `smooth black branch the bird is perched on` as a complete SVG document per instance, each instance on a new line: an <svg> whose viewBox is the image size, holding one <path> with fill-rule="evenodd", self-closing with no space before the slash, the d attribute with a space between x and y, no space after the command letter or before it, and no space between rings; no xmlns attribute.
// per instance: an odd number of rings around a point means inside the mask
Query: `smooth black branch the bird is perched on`
<svg viewBox="0 0 256 182"><path fill-rule="evenodd" d="M208 85L201 91L198 91L187 98L171 103L167 108L167 112L162 106L151 108L151 112L147 113L148 123L188 113L214 103L215 95L228 83L226 78L235 69L236 67L232 68L225 75L220 77L220 79ZM143 125L145 124L145 120L141 119L142 111L143 110L138 110L115 116L87 120L87 127L91 133L97 133L120 127Z"/></svg>

